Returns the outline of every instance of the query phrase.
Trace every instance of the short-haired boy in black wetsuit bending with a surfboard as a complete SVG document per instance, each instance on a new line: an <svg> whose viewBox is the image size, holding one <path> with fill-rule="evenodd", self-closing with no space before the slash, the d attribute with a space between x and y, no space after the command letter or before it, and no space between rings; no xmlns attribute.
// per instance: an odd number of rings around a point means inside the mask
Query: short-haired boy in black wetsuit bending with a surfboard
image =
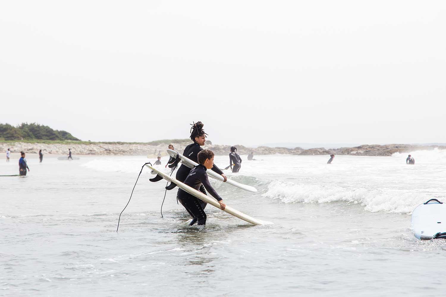
<svg viewBox="0 0 446 297"><path fill-rule="evenodd" d="M187 175L184 183L189 187L193 187L195 190L202 191L201 188L204 186L206 191L208 191L217 201L220 203L220 208L225 209L226 205L223 203L223 199L214 190L209 183L209 178L207 177L206 170L213 169L214 165L214 153L210 150L202 150L197 155L198 165L195 166ZM225 180L226 181L226 180ZM190 216L192 216L192 221L189 226L198 222L198 225L206 224L206 213L204 212L204 207L202 207L202 200L198 199L194 195L190 195L188 192L178 189L178 201L186 208ZM205 203L206 205L207 203Z"/></svg>

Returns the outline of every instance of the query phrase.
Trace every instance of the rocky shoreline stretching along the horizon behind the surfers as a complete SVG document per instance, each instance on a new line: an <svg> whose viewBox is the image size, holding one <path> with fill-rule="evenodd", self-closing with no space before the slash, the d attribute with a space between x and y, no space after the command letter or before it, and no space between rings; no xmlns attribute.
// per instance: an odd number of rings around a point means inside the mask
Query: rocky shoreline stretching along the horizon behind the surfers
<svg viewBox="0 0 446 297"><path fill-rule="evenodd" d="M183 151L190 142L172 143L177 151ZM70 148L74 155L148 155L155 157L158 153L166 155L165 150L170 143L149 145L135 143L91 143L91 144L47 144L31 142L4 142L0 143L0 150L6 151L8 148L12 152L25 151L27 154L37 154L42 150L43 154L66 155ZM391 156L392 154L407 153L422 150L446 149L446 146L419 146L409 144L386 144L386 145L362 145L355 147L341 147L337 149L312 148L302 149L296 147L289 149L286 147L259 146L249 148L236 145L240 155L247 155L254 152L254 155L355 155L355 156ZM229 154L230 146L206 144L203 148L214 151L215 155Z"/></svg>

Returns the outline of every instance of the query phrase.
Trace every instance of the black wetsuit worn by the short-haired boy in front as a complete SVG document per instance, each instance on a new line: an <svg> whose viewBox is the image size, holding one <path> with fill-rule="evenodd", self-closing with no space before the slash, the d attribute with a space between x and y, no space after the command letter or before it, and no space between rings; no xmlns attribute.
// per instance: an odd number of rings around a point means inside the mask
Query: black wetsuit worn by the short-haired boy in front
<svg viewBox="0 0 446 297"><path fill-rule="evenodd" d="M215 165L214 165L215 167ZM204 186L206 190L215 198L217 201L222 200L219 194L214 190L209 183L209 178L207 177L206 167L202 164L195 166L189 173L189 175L184 180L184 183L195 190L201 191ZM178 174L177 174L178 175ZM206 213L204 212L204 207L202 207L202 200L198 199L194 195L190 195L188 192L178 189L178 201L186 208L193 220L191 225L198 221L198 225L206 224ZM206 203L207 204L207 203Z"/></svg>

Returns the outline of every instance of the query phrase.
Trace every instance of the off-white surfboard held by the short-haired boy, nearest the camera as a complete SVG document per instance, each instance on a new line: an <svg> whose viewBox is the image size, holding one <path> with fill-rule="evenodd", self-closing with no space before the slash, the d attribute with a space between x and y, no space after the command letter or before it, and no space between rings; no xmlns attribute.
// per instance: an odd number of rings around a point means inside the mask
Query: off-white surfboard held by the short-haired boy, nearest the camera
<svg viewBox="0 0 446 297"><path fill-rule="evenodd" d="M175 183L176 185L178 185L178 187L180 187L182 190L188 192L190 195L194 195L198 199L203 200L204 202L209 203L212 206L217 207L218 209L221 210L220 203L218 203L216 199L208 197L207 195L204 195L202 192L197 191L192 187L189 187L188 185L180 182L177 179L174 179L173 177L165 174L164 172L161 172L161 171L153 168L150 165L146 164L145 166L149 167L152 171L155 171L158 175L162 176L163 179L168 180L172 183ZM248 223L251 223L253 225L272 224L271 222L254 219L252 216L245 215L243 212L239 212L238 210L236 210L230 206L227 206L227 205L226 205L226 208L223 210L223 212L227 212L228 214L235 216L241 220L244 220Z"/></svg>

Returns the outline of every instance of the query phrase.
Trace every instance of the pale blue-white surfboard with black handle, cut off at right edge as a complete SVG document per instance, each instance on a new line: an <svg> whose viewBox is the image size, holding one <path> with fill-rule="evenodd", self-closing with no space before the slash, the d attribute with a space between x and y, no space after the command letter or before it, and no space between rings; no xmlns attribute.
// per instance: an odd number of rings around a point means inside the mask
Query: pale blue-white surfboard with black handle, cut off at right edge
<svg viewBox="0 0 446 297"><path fill-rule="evenodd" d="M412 212L412 228L421 240L446 238L446 203L437 199L418 205Z"/></svg>

